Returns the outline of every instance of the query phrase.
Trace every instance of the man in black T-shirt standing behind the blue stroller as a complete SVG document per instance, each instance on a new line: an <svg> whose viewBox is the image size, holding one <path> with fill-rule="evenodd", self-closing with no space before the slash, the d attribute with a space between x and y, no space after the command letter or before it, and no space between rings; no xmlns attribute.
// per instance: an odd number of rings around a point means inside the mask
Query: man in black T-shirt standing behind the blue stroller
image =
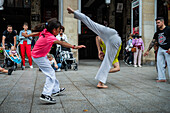
<svg viewBox="0 0 170 113"><path fill-rule="evenodd" d="M3 32L2 36L2 47L5 49L5 42L7 43L8 48L11 48L11 44L16 46L16 32L12 30L12 26L8 25L7 30Z"/></svg>

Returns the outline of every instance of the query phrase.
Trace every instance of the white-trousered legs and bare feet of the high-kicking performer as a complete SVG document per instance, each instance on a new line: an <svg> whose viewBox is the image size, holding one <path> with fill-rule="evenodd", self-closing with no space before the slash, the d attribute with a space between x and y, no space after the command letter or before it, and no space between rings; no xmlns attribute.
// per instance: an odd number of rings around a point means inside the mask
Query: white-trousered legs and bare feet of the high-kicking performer
<svg viewBox="0 0 170 113"><path fill-rule="evenodd" d="M89 29L100 36L106 44L105 56L102 51L99 51L99 58L104 57L104 59L95 78L99 80L97 87L107 88L104 83L106 83L112 62L114 61L116 54L121 46L121 38L115 29L95 23L86 15L80 13L79 11L74 11L70 7L68 7L67 10L69 14L73 13L76 19L81 20Z"/></svg>

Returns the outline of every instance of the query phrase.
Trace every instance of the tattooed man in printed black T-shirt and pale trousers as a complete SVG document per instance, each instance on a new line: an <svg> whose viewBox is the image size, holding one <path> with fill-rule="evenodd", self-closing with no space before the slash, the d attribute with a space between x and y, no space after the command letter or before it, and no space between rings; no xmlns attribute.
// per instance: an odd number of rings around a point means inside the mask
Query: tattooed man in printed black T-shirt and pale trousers
<svg viewBox="0 0 170 113"><path fill-rule="evenodd" d="M156 19L158 31L154 34L152 42L150 43L144 56L149 54L151 48L158 42L158 53L157 53L157 69L158 69L158 80L157 82L166 82L165 76L165 61L167 61L167 67L170 77L170 27L165 26L164 18L158 17Z"/></svg>

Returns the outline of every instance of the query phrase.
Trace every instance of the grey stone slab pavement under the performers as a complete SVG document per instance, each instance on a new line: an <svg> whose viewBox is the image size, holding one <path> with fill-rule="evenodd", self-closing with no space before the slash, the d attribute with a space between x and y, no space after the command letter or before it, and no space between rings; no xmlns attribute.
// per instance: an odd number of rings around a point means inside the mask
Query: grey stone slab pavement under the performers
<svg viewBox="0 0 170 113"><path fill-rule="evenodd" d="M156 83L155 67L128 67L108 75L108 89L96 88L97 60L81 60L79 70L56 72L64 94L56 104L39 100L45 76L38 68L0 74L0 113L170 113L170 84Z"/></svg>

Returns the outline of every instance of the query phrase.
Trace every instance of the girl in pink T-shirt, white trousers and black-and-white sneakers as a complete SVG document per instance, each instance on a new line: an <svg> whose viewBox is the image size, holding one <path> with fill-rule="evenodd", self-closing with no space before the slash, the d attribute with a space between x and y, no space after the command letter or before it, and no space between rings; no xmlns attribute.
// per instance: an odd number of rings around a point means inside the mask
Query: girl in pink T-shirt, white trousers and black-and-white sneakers
<svg viewBox="0 0 170 113"><path fill-rule="evenodd" d="M59 82L55 76L55 71L51 67L51 64L46 56L47 53L49 53L52 45L59 44L73 49L80 49L83 47L85 48L84 45L75 46L63 41L59 41L55 36L58 35L60 26L60 22L58 22L56 18L52 18L46 23L39 24L34 28L35 31L41 32L35 32L30 35L22 33L22 35L25 37L39 35L39 39L32 50L32 58L33 61L39 66L41 71L46 75L46 82L40 99L49 103L56 103L56 100L54 100L51 95L59 95L65 90L65 88L60 88Z"/></svg>

